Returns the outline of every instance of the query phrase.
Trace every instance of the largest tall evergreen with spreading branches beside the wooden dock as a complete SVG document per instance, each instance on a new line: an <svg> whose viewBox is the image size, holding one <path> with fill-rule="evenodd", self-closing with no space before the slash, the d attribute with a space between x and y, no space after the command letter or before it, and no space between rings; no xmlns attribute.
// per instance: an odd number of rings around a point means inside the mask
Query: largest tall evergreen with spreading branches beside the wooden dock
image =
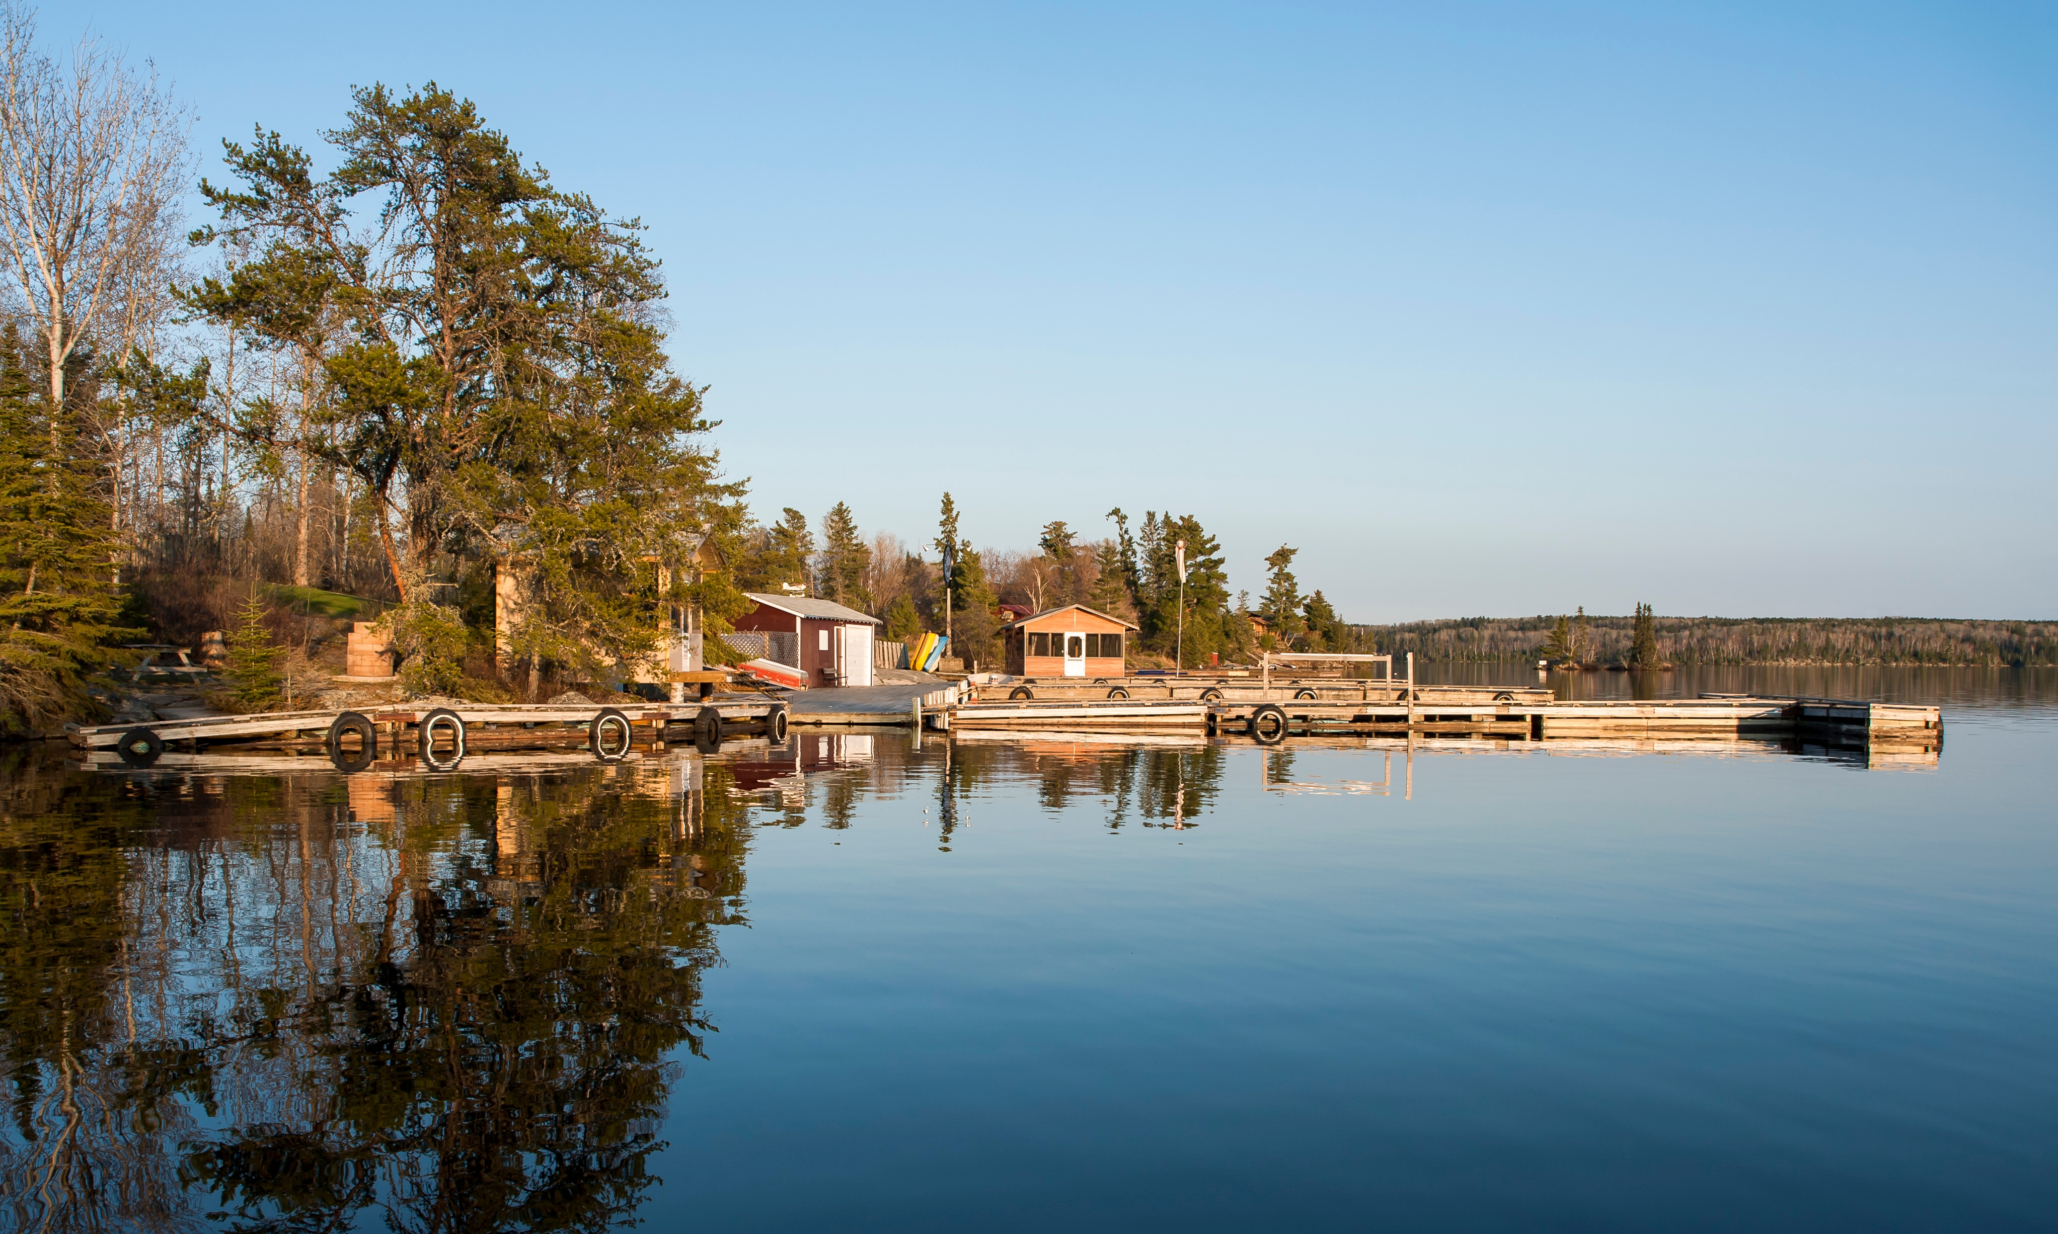
<svg viewBox="0 0 2058 1234"><path fill-rule="evenodd" d="M379 510L403 607L496 559L523 572L529 603L502 636L531 660L597 675L646 658L667 603L718 633L747 603L685 564L704 537L743 553L743 487L702 444L702 387L669 368L642 226L552 185L434 82L356 90L327 138L329 175L278 134L228 146L239 183L202 183L220 226L193 241L249 239L259 257L183 294L278 346L342 315L321 354L327 450Z"/></svg>

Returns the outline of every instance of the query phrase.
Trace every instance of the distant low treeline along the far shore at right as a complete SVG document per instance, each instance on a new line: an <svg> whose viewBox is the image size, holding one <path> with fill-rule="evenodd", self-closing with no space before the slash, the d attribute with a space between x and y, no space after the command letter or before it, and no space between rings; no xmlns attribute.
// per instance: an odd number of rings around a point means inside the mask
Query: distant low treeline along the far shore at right
<svg viewBox="0 0 2058 1234"><path fill-rule="evenodd" d="M1426 664L1504 664L1543 658L1558 615L1461 617L1352 625L1352 644L1414 652ZM1587 617L1583 660L1628 660L1634 617ZM2058 664L2058 621L1937 617L1659 617L1669 664Z"/></svg>

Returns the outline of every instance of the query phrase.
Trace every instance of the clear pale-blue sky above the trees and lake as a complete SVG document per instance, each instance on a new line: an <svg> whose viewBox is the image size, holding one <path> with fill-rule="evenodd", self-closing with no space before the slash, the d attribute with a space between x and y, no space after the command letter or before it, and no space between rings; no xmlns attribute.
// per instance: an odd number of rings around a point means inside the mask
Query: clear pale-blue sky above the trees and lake
<svg viewBox="0 0 2058 1234"><path fill-rule="evenodd" d="M62 4L222 136L475 99L776 516L1196 514L1358 621L2058 617L2050 6Z"/></svg>

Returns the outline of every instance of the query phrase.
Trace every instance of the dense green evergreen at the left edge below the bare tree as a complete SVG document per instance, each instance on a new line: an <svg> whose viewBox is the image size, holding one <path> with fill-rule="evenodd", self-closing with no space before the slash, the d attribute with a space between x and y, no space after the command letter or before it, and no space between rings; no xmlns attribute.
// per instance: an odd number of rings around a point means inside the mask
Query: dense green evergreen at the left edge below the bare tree
<svg viewBox="0 0 2058 1234"><path fill-rule="evenodd" d="M76 358L76 354L74 354ZM93 397L72 387L72 397ZM138 631L117 625L109 510L97 459L66 407L0 331L0 732L21 734L91 710L86 679Z"/></svg>

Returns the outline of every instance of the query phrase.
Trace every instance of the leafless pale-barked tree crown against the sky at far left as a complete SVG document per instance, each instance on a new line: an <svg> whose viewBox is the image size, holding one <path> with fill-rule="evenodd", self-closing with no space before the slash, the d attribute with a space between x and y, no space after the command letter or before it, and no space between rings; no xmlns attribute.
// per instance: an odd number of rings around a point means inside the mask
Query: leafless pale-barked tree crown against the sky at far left
<svg viewBox="0 0 2058 1234"><path fill-rule="evenodd" d="M54 409L72 352L167 253L189 130L148 62L136 72L84 37L58 64L35 47L35 10L0 2L0 245L41 333Z"/></svg>

